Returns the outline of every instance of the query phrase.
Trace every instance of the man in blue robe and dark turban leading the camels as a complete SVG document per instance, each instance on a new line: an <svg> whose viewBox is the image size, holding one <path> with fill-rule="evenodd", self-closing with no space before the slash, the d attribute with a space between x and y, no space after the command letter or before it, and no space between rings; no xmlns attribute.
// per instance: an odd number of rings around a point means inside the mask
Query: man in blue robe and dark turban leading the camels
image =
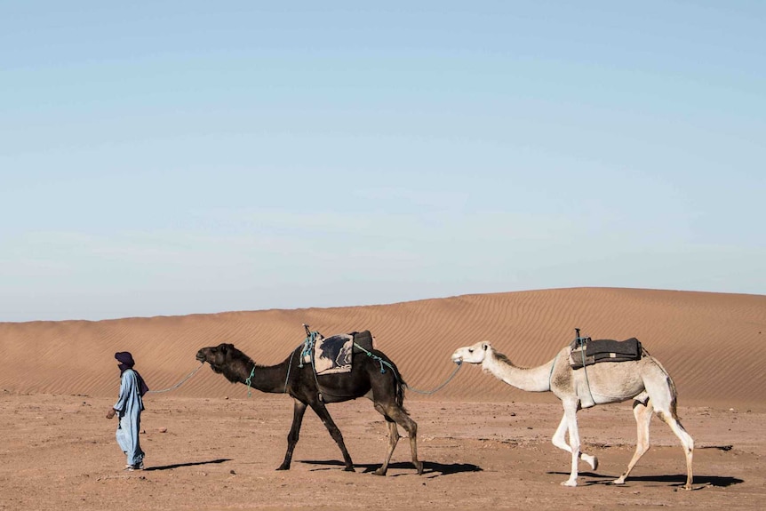
<svg viewBox="0 0 766 511"><path fill-rule="evenodd" d="M120 396L117 403L108 411L107 419L112 419L116 413L119 413L120 422L117 424L116 438L128 457L125 470L142 470L144 451L141 451L139 432L144 402L141 398L149 388L139 372L133 369L135 362L129 352L116 353L115 358L117 367L120 368Z"/></svg>

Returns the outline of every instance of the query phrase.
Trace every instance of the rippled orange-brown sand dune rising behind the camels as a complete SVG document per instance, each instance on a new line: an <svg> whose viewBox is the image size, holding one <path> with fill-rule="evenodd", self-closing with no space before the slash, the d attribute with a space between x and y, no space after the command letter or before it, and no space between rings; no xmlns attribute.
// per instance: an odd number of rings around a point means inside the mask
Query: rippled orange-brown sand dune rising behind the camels
<svg viewBox="0 0 766 511"><path fill-rule="evenodd" d="M577 288L467 295L366 307L261 310L99 322L0 323L0 389L116 395L113 355L128 350L150 387L171 387L198 367L197 349L231 342L258 363L284 360L305 335L368 329L411 387L430 389L453 370L456 347L489 339L520 366L547 362L573 338L637 337L673 376L682 404L762 403L766 296ZM208 368L174 397L243 395ZM152 395L160 398L161 394ZM410 398L421 398L410 393ZM422 397L426 398L427 397ZM554 403L463 368L439 399Z"/></svg>

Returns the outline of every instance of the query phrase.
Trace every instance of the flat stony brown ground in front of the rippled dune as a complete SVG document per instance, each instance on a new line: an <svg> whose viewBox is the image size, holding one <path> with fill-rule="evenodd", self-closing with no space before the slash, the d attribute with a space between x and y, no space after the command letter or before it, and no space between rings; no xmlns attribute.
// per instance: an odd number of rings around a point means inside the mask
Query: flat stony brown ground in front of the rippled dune
<svg viewBox="0 0 766 511"><path fill-rule="evenodd" d="M762 509L766 505L763 409L681 407L694 436L694 490L682 449L658 419L653 448L624 486L610 485L634 449L629 403L581 411L586 451L578 488L561 483L569 455L550 443L557 403L407 400L419 423L425 472L408 441L386 477L371 474L386 449L386 426L365 399L330 406L355 461L342 470L337 446L309 411L290 471L276 471L291 422L291 399L231 387L231 397L147 399L141 443L146 469L122 471L113 403L88 395L0 391L0 509Z"/></svg>

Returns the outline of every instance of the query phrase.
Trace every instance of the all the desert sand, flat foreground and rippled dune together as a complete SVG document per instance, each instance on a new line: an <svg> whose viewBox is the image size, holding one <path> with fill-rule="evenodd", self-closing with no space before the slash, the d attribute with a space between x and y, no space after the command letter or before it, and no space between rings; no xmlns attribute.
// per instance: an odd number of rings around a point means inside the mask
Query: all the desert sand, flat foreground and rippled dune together
<svg viewBox="0 0 766 511"><path fill-rule="evenodd" d="M124 473L104 418L119 386L116 351L131 351L149 387L199 367L200 347L231 342L279 363L305 337L370 330L411 387L436 387L450 355L488 339L516 365L551 360L574 337L636 337L673 376L695 439L695 490L682 491L683 455L652 420L652 449L624 486L608 484L635 441L630 403L579 413L580 486L559 485L570 457L550 443L555 396L524 393L465 365L434 395L408 392L419 423L416 475L404 440L387 477L369 472L386 448L365 399L330 406L356 473L307 413L289 472L277 472L292 416L286 395L232 385L203 367L180 387L147 395L141 472ZM766 296L578 288L467 295L365 307L262 310L99 322L0 323L0 509L761 509L766 505Z"/></svg>

